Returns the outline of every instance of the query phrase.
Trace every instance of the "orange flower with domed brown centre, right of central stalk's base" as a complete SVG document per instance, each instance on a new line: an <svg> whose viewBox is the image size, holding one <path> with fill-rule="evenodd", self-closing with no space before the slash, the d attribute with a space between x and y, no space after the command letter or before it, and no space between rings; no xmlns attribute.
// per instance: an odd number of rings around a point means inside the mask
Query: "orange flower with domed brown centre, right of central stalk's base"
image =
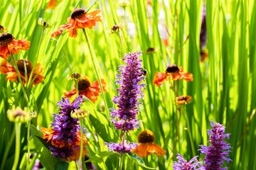
<svg viewBox="0 0 256 170"><path fill-rule="evenodd" d="M165 150L154 143L154 133L150 130L144 130L139 133L137 140L139 145L132 149L132 152L138 154L139 157L147 157L149 154L157 154L164 156Z"/></svg>

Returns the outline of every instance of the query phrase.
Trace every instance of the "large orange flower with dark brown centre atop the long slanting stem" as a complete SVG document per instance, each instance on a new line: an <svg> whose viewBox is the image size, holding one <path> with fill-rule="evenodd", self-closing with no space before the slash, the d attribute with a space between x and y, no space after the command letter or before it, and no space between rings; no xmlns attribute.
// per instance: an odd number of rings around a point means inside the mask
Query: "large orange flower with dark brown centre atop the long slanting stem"
<svg viewBox="0 0 256 170"><path fill-rule="evenodd" d="M68 30L68 35L70 37L75 38L77 36L77 29L78 28L93 28L96 26L97 21L102 21L102 16L100 14L100 9L96 9L90 13L87 13L82 8L76 8L72 13L71 16L68 18L68 23L61 25L60 33L62 30ZM53 32L55 33L55 32Z"/></svg>

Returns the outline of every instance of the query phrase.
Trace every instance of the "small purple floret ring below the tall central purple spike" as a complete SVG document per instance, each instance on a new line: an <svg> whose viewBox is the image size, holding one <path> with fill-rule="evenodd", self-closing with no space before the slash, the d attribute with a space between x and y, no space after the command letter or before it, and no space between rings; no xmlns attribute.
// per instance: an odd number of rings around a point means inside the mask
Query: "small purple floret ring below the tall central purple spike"
<svg viewBox="0 0 256 170"><path fill-rule="evenodd" d="M124 141L124 145L122 143L106 143L107 147L109 148L110 152L114 151L119 154L126 154L131 153L131 150L134 149L134 147L137 147L137 144L134 143L127 143L127 141Z"/></svg>

